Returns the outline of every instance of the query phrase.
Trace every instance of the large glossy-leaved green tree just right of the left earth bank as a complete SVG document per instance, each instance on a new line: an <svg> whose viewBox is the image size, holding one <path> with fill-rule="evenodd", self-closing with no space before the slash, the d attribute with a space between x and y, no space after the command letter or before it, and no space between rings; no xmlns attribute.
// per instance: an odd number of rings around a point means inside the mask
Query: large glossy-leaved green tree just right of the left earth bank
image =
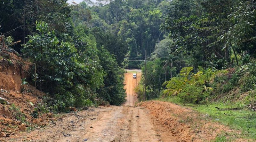
<svg viewBox="0 0 256 142"><path fill-rule="evenodd" d="M29 36L22 49L24 56L34 63L32 72L36 70L36 75L33 74L32 79L40 80L39 88L51 92L62 102L58 103L61 110L65 106L84 105L85 102L79 102L80 99L89 99L91 94L82 90L95 90L103 83L101 66L79 54L88 48L85 44L76 48L70 42L59 41L47 23L37 22L36 27L38 34ZM81 88L81 92L76 91L77 87Z"/></svg>

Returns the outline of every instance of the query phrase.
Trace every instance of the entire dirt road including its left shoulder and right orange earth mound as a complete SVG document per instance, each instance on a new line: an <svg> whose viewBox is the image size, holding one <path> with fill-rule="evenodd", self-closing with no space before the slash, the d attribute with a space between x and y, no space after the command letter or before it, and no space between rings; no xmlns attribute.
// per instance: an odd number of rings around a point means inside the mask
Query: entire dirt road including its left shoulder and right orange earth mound
<svg viewBox="0 0 256 142"><path fill-rule="evenodd" d="M140 74L138 73L137 83ZM0 138L0 142L205 142L224 132L231 141L248 141L239 131L208 121L191 109L178 105L148 101L134 107L136 79L125 74L127 101L123 106L89 108L74 114L49 118L50 124L31 132Z"/></svg>

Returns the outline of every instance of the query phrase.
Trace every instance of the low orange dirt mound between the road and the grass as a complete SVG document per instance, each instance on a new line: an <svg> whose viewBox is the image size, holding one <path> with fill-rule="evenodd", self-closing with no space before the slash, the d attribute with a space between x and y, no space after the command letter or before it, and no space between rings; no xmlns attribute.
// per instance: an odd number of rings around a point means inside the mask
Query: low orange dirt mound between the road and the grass
<svg viewBox="0 0 256 142"><path fill-rule="evenodd" d="M214 140L218 134L222 134L223 132L240 133L220 123L208 121L210 118L206 115L200 115L191 109L183 108L169 102L148 101L138 105L151 111L151 114L156 117L154 123L162 126L164 135L172 139L172 141L205 142ZM234 141L238 142L247 141L236 138L236 135L228 139L234 139Z"/></svg>

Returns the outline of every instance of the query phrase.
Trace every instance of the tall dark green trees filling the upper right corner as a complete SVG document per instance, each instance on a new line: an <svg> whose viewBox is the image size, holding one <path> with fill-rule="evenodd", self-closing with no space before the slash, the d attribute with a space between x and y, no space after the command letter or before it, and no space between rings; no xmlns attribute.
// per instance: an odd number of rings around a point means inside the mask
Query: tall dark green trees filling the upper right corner
<svg viewBox="0 0 256 142"><path fill-rule="evenodd" d="M188 64L222 69L255 54L255 3L252 1L173 0L167 14L172 53ZM242 58L240 57L242 56Z"/></svg>

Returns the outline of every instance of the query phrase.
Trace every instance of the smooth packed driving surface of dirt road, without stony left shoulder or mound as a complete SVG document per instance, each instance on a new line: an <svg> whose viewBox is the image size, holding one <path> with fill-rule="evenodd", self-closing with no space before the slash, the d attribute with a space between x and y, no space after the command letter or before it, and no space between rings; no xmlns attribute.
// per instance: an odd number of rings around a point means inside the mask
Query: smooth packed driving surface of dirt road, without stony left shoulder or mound
<svg viewBox="0 0 256 142"><path fill-rule="evenodd" d="M98 119L90 123L93 128L87 128L77 141L88 139L90 142L141 142L158 141L154 126L150 123L148 111L135 105L136 78L132 78L133 73L125 73L125 89L127 93L126 102L122 107L107 107L100 113ZM137 84L141 78L140 72L137 74ZM69 141L70 138L61 141Z"/></svg>

